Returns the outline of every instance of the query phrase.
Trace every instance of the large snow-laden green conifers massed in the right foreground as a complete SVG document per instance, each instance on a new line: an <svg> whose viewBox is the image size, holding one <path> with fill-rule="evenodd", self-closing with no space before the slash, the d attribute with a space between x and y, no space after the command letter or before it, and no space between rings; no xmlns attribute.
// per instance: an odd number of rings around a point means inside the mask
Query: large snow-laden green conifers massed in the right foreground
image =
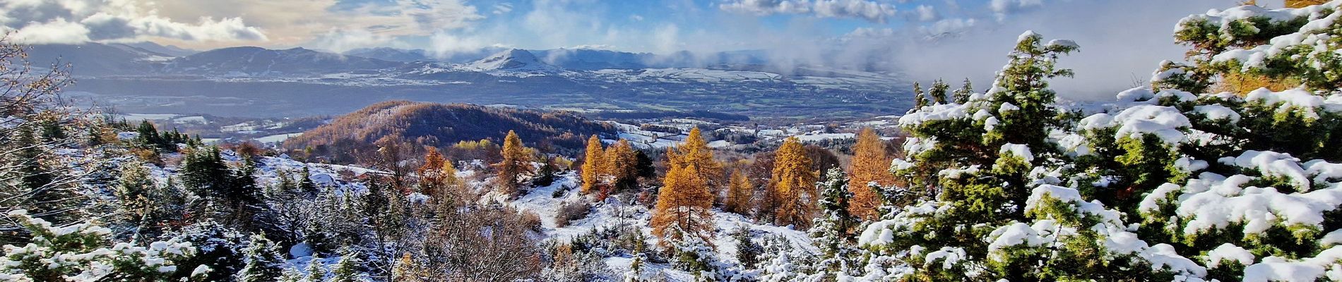
<svg viewBox="0 0 1342 282"><path fill-rule="evenodd" d="M1056 71L1016 65L1035 53L1017 49L986 95L900 119L914 138L894 167L941 196L864 230L874 257L860 278L1342 279L1342 158L1330 150L1342 146L1342 80L1326 75L1338 61L1338 7L1189 16L1176 39L1194 47L1192 63L1161 63L1157 90L1099 106L1039 99L1045 84L1013 74ZM1219 86L1249 76L1299 87ZM1228 92L1202 92L1212 88ZM1012 120L1031 112L1053 114ZM978 150L997 159L941 158L976 155L976 143L1001 144Z"/></svg>

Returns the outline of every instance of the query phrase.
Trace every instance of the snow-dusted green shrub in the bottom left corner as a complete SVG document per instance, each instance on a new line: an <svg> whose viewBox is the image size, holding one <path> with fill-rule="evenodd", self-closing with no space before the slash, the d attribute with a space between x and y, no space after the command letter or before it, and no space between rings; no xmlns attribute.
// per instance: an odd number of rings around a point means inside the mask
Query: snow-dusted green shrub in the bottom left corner
<svg viewBox="0 0 1342 282"><path fill-rule="evenodd" d="M0 279L4 281L200 279L209 271L207 266L184 269L177 263L196 254L189 242L156 241L138 246L111 242L111 230L94 223L58 227L30 217L25 210L8 215L32 239L23 246L4 246L0 258Z"/></svg>

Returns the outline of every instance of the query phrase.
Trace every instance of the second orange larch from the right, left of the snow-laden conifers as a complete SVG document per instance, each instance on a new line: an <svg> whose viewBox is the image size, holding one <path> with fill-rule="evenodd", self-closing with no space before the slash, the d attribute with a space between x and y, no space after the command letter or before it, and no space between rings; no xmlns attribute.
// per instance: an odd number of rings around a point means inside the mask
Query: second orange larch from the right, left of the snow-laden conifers
<svg viewBox="0 0 1342 282"><path fill-rule="evenodd" d="M805 155L801 142L797 138L788 138L782 146L774 151L773 178L769 188L778 202L774 211L774 222L782 226L792 225L798 230L811 226L811 213L815 203L815 183L817 175L811 170L811 159Z"/></svg>

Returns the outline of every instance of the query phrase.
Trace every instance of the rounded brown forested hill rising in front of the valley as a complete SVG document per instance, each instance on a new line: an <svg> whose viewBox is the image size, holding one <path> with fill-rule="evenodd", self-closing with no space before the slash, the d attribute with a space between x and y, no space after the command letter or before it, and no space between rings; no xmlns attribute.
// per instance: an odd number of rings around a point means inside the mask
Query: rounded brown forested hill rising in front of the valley
<svg viewBox="0 0 1342 282"><path fill-rule="evenodd" d="M596 134L615 134L611 126L572 112L541 112L475 104L440 104L405 100L382 102L285 142L286 148L311 148L315 156L356 162L378 140L404 140L416 147L444 147L463 140L498 142L513 130L537 147L554 151L581 150Z"/></svg>

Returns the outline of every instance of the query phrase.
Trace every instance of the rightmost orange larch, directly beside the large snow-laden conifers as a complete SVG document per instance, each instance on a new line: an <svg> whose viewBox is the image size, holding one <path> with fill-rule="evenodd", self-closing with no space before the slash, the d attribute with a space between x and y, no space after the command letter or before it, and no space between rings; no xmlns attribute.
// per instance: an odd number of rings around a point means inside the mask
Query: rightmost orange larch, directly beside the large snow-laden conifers
<svg viewBox="0 0 1342 282"><path fill-rule="evenodd" d="M875 130L863 128L858 134L858 143L852 147L852 163L848 166L851 182L848 191L854 194L849 211L867 221L880 218L880 195L868 184L875 183L882 187L895 184L895 178L890 174L890 156L886 154L886 144L876 135Z"/></svg>

